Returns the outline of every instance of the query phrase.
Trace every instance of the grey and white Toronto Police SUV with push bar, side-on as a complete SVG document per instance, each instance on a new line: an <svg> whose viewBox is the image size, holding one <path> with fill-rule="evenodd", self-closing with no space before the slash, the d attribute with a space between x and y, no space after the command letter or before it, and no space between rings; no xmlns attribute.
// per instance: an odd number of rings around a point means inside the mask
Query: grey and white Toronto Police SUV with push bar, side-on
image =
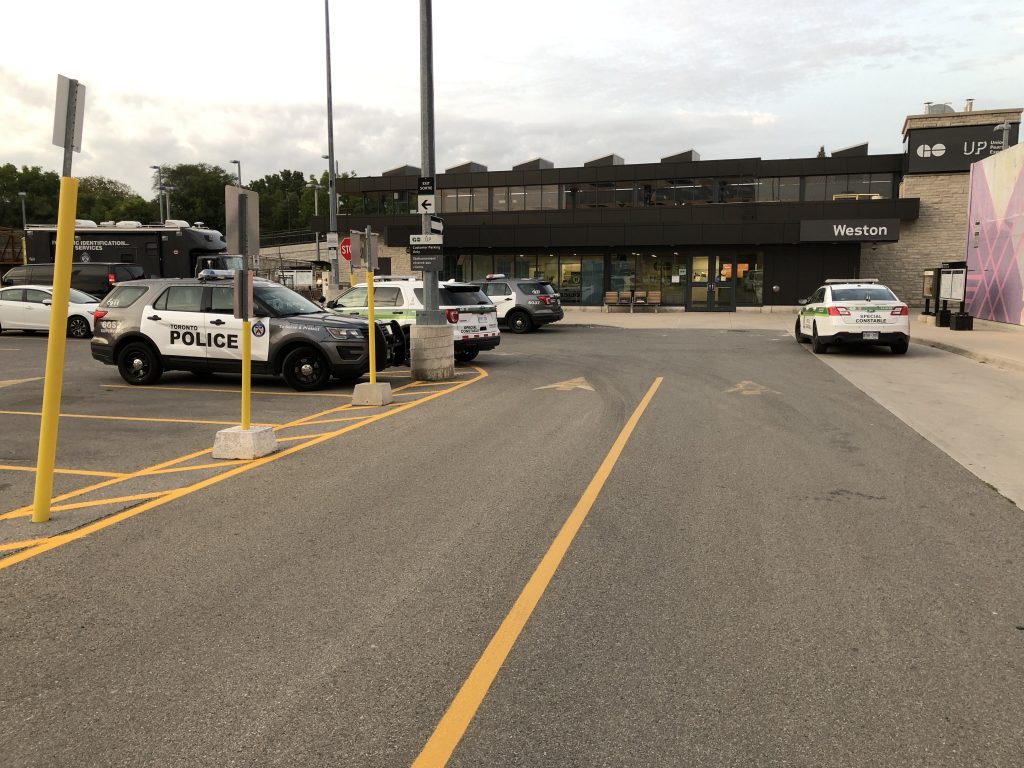
<svg viewBox="0 0 1024 768"><path fill-rule="evenodd" d="M242 371L242 321L233 313L231 272L119 284L95 313L92 356L117 366L129 384L154 384L164 371ZM255 280L250 321L252 373L281 375L294 389L322 389L370 370L369 325L340 317L278 283ZM377 323L377 370L400 364L397 324Z"/></svg>

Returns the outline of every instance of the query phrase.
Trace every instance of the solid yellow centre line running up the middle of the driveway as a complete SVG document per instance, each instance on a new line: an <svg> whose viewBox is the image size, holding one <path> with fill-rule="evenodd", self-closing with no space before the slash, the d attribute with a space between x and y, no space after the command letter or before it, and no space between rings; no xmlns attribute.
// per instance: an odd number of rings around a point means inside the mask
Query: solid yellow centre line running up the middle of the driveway
<svg viewBox="0 0 1024 768"><path fill-rule="evenodd" d="M529 616L551 583L555 570L568 551L569 545L572 544L580 526L587 519L587 515L604 487L604 483L618 461L630 435L633 434L633 429L640 421L640 417L646 411L657 388L662 385L662 381L663 377L660 376L654 379L647 394L643 396L640 404L626 422L626 426L618 433L618 437L612 443L608 455L604 457L604 461L598 467L597 474L587 485L587 489L577 502L561 530L558 531L558 536L555 537L551 547L544 555L541 564L537 566L519 597L516 598L512 609L505 616L505 621L502 622L495 636L490 638L490 642L483 650L483 655L480 656L472 672L469 673L469 677L462 684L423 751L413 762L413 768L427 768L428 766L429 768L437 768L445 765L449 758L452 757L452 753L462 739L473 716L476 715L483 697L487 694L490 684L498 676L502 665L505 664L512 646L515 645L519 633L526 626L526 622L529 621Z"/></svg>

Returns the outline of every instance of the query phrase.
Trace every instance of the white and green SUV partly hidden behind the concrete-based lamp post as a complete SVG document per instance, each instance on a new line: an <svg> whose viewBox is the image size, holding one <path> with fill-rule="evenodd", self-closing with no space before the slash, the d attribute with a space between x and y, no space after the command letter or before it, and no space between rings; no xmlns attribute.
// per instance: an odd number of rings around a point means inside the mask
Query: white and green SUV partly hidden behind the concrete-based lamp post
<svg viewBox="0 0 1024 768"><path fill-rule="evenodd" d="M325 306L337 314L367 317L369 289L359 283L328 301ZM483 350L501 344L498 310L480 289L470 283L446 281L437 286L438 308L452 327L455 358L469 362ZM381 278L374 281L374 318L395 321L401 326L407 342L416 325L416 313L423 309L423 281L416 278ZM410 344L406 344L410 349Z"/></svg>

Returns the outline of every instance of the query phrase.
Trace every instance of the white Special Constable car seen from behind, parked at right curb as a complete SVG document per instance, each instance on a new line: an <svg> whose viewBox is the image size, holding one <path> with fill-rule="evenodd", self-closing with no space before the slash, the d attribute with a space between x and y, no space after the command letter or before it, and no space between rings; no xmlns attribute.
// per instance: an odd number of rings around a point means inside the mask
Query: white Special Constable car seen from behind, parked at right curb
<svg viewBox="0 0 1024 768"><path fill-rule="evenodd" d="M893 354L910 346L909 309L877 280L826 280L799 303L794 333L815 354L839 344L879 344Z"/></svg>

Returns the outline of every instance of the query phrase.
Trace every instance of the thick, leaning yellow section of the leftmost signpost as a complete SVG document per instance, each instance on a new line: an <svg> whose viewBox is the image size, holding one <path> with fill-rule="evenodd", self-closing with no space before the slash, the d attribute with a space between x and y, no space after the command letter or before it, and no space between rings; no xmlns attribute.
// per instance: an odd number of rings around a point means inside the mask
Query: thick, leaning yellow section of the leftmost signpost
<svg viewBox="0 0 1024 768"><path fill-rule="evenodd" d="M60 390L63 387L63 355L68 343L68 300L71 294L71 258L75 245L75 210L78 179L60 177L57 203L57 245L53 264L53 301L50 304L50 336L46 340L46 378L43 381L43 418L39 423L39 454L36 458L36 490L32 521L50 519L53 496L53 463L57 454Z"/></svg>

